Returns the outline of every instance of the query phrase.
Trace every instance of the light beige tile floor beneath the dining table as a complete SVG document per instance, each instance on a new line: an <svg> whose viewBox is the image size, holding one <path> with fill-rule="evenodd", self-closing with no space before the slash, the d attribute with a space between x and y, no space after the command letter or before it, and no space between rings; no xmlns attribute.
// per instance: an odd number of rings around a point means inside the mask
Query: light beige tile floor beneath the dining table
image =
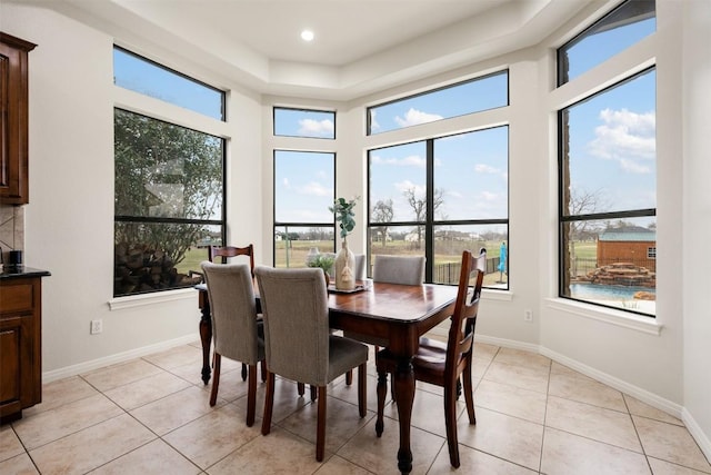
<svg viewBox="0 0 711 475"><path fill-rule="evenodd" d="M527 352L477 346L477 425L463 403L461 467L450 467L441 390L418 384L413 474L710 474L683 424L640 400ZM329 388L327 455L316 462L316 406L278 379L273 428L247 427L247 384L222 359L218 404L200 380L199 344L44 386L43 403L0 429L0 473L9 474L394 474L397 410L374 434L371 355L368 416L356 385Z"/></svg>

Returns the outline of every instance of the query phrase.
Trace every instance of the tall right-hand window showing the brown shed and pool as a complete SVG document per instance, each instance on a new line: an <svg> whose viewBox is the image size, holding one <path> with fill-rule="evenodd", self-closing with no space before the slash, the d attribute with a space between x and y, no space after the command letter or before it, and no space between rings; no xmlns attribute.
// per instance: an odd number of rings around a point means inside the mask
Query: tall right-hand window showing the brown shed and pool
<svg viewBox="0 0 711 475"><path fill-rule="evenodd" d="M655 70L559 111L559 125L560 295L654 315Z"/></svg>

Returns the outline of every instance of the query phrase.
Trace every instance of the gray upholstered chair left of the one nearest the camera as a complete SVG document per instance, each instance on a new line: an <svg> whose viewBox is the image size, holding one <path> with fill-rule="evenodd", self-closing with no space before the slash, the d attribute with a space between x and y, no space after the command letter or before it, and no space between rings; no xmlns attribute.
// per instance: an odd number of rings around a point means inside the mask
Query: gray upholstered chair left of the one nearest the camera
<svg viewBox="0 0 711 475"><path fill-rule="evenodd" d="M264 359L262 323L257 319L257 301L252 274L247 264L200 264L204 273L212 311L214 339L212 392L214 406L220 386L222 356L249 367L247 425L254 424L257 400L257 364Z"/></svg>

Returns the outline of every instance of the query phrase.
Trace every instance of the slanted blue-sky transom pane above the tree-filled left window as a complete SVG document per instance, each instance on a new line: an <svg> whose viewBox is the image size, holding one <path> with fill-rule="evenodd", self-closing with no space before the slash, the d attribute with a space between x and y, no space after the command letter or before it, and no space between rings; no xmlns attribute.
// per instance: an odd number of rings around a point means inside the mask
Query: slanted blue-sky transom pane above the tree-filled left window
<svg viewBox="0 0 711 475"><path fill-rule="evenodd" d="M113 82L122 88L224 120L223 91L118 47L113 47Z"/></svg>

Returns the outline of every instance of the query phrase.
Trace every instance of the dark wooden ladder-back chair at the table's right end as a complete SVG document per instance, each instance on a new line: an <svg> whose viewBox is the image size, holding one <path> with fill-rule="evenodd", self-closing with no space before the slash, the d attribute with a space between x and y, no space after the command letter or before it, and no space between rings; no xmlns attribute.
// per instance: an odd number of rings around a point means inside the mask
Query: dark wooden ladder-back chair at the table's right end
<svg viewBox="0 0 711 475"><path fill-rule="evenodd" d="M471 251L462 253L462 266L459 277L459 289L451 316L451 326L447 343L420 338L420 348L412 358L415 380L430 383L444 388L444 425L449 459L453 467L459 467L459 446L457 441L457 382L463 377L464 402L469 424L477 424L474 415L474 397L472 393L471 366L474 344L474 326L479 311L479 298L483 276L487 269L487 250L481 248L479 256ZM471 286L471 287L470 287ZM375 434L383 432L383 406L387 392L387 373L395 369L397 362L388 348L375 354L378 369L378 417Z"/></svg>

